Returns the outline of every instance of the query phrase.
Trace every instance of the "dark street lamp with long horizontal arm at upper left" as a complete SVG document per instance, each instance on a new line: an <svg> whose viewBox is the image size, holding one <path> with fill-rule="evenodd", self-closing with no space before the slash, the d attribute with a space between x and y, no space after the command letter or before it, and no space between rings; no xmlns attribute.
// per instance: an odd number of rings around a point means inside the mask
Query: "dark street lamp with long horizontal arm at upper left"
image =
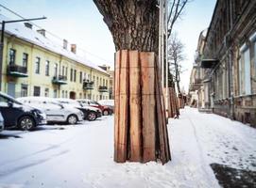
<svg viewBox="0 0 256 188"><path fill-rule="evenodd" d="M12 20L12 21L2 21L2 30L1 30L1 43L0 43L0 91L2 90L2 67L3 67L3 56L4 56L4 39L5 39L5 26L6 24L11 23L21 23L26 21L37 21L37 20L43 20L46 19L46 17L41 18L31 18L31 19L21 19L21 20Z"/></svg>

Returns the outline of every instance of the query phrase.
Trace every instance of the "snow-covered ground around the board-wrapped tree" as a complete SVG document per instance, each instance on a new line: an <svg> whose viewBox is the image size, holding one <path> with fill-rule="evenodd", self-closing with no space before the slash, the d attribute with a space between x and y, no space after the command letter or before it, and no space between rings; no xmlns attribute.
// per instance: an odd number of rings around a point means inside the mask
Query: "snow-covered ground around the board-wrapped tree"
<svg viewBox="0 0 256 188"><path fill-rule="evenodd" d="M219 187L210 164L256 171L256 130L196 109L169 119L172 161L113 162L113 117L0 133L0 187Z"/></svg>

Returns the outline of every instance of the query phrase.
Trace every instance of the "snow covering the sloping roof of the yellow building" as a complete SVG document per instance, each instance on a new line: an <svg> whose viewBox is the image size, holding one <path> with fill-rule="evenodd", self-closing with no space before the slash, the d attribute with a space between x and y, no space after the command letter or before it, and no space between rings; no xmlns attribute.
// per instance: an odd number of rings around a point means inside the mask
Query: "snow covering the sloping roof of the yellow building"
<svg viewBox="0 0 256 188"><path fill-rule="evenodd" d="M0 14L0 21L1 22L9 21L9 18ZM74 61L77 61L78 63L81 63L87 67L93 68L96 71L107 73L107 71L102 70L93 62L86 59L85 57L76 55L71 51L63 49L60 43L53 41L53 39L48 39L47 37L44 37L42 34L38 33L37 31L27 28L24 24L20 24L20 23L6 24L5 32L8 33L9 35L14 35L19 39L24 39L27 42L36 44L46 50L52 51L59 55L66 56Z"/></svg>

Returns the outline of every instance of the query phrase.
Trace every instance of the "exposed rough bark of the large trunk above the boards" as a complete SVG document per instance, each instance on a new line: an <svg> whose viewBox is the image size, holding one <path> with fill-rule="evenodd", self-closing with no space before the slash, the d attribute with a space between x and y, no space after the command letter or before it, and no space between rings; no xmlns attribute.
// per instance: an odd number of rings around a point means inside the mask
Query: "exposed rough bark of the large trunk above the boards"
<svg viewBox="0 0 256 188"><path fill-rule="evenodd" d="M115 50L138 50L158 55L157 0L94 0L108 25Z"/></svg>

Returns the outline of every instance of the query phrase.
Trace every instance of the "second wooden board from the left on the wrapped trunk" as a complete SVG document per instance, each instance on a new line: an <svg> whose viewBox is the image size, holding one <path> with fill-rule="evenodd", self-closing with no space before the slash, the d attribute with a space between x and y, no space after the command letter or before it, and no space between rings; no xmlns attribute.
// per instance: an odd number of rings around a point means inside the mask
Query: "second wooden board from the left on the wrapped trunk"
<svg viewBox="0 0 256 188"><path fill-rule="evenodd" d="M119 98L119 137L118 162L124 163L128 159L128 51L121 51L121 68L120 68L120 98Z"/></svg>

